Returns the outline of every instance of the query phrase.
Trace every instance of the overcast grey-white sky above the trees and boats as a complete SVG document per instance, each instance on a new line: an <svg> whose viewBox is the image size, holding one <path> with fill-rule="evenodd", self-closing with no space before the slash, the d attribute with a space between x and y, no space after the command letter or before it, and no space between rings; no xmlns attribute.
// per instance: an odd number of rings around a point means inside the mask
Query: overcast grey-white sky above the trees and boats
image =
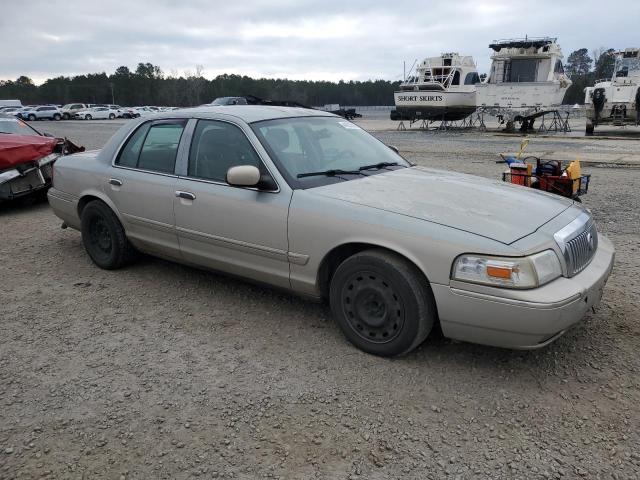
<svg viewBox="0 0 640 480"><path fill-rule="evenodd" d="M402 78L457 51L488 70L499 38L557 36L640 47L640 0L0 0L0 79L112 73L138 62L183 74L313 80Z"/></svg>

